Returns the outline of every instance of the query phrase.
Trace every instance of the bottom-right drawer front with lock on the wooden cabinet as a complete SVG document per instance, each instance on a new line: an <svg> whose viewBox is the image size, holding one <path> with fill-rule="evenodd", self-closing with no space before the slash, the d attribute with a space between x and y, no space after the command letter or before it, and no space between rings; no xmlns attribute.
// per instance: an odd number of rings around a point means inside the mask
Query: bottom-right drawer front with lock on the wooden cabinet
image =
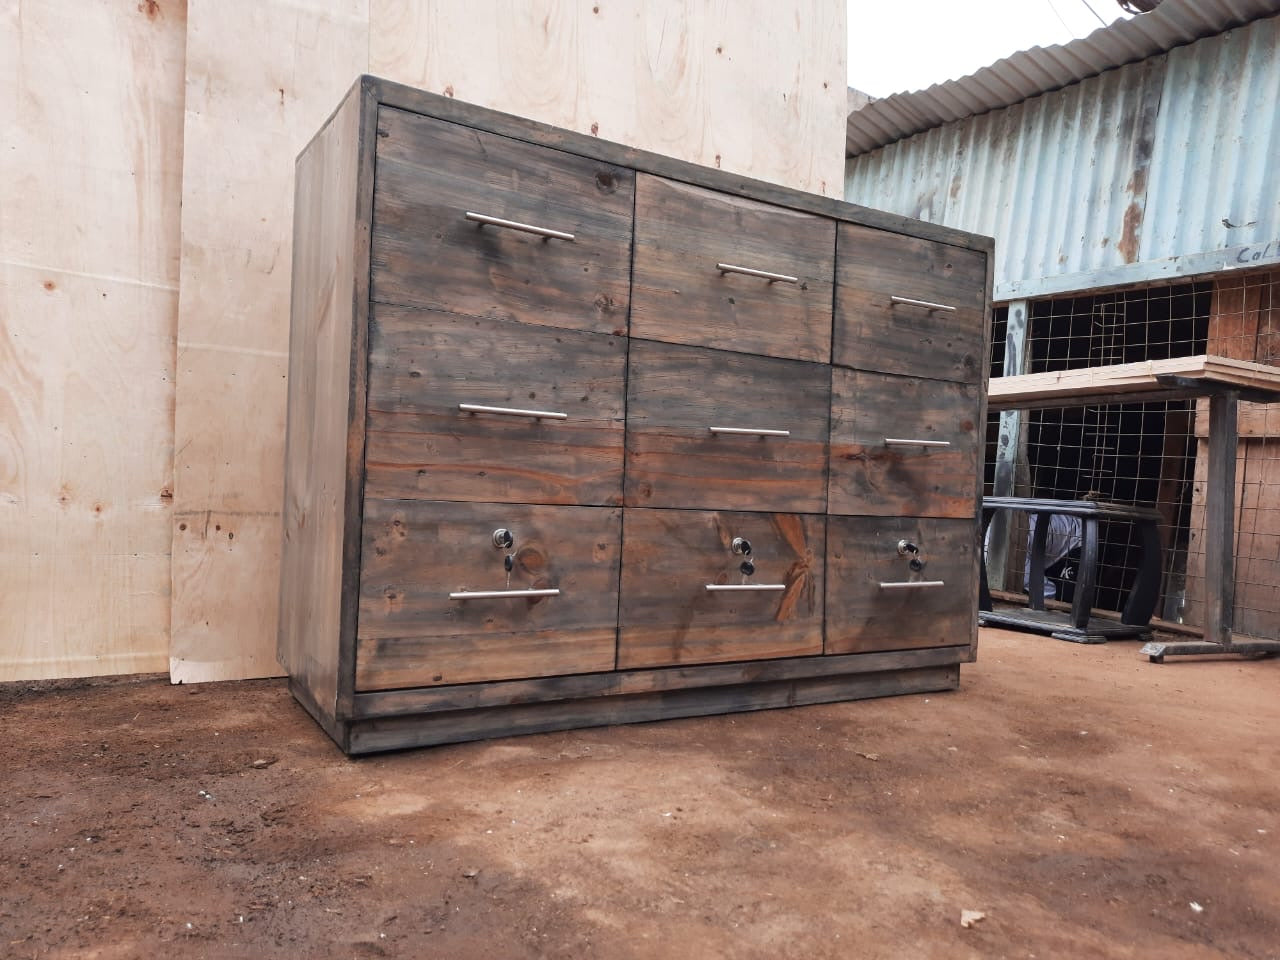
<svg viewBox="0 0 1280 960"><path fill-rule="evenodd" d="M968 645L978 628L977 538L973 520L831 517L827 653ZM911 571L902 540L924 570ZM883 586L904 582L919 586Z"/></svg>

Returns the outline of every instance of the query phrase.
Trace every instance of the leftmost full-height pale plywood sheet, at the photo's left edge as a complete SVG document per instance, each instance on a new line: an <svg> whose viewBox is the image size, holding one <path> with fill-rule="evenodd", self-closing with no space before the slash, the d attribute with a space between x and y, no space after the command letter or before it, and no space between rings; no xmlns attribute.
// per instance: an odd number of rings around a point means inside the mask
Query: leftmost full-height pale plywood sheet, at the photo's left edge
<svg viewBox="0 0 1280 960"><path fill-rule="evenodd" d="M0 4L0 681L168 667L184 45Z"/></svg>

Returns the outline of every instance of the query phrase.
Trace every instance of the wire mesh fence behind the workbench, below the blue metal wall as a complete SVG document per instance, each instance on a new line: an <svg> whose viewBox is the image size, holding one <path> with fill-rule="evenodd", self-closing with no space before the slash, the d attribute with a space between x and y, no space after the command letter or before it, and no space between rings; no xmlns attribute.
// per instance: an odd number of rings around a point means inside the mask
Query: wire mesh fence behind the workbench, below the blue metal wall
<svg viewBox="0 0 1280 960"><path fill-rule="evenodd" d="M1004 372L1007 308L993 312L991 375ZM1280 271L1107 291L1028 303L1025 372L1212 353L1280 364ZM1242 404L1235 567L1236 632L1280 635L1280 404ZM986 483L995 477L988 422ZM1164 584L1157 614L1203 617L1206 401L1114 403L1028 411L1019 495L1102 499L1161 515ZM1096 607L1121 609L1140 544L1126 524L1101 529ZM1005 582L1025 588L1028 525L1012 525ZM1052 559L1052 558L1048 558Z"/></svg>

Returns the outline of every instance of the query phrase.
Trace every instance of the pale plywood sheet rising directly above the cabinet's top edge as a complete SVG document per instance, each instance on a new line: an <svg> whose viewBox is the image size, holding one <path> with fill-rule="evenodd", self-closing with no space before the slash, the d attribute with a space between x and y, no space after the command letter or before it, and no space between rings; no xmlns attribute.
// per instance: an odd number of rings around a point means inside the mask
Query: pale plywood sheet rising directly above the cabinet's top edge
<svg viewBox="0 0 1280 960"><path fill-rule="evenodd" d="M842 196L844 3L370 0L370 14L378 76Z"/></svg>

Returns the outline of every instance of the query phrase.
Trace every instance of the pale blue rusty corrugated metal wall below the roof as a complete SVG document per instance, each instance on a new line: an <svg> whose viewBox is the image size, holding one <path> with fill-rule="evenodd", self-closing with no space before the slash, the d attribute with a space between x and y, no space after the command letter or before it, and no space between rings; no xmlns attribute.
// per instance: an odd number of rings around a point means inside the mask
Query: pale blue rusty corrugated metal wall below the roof
<svg viewBox="0 0 1280 960"><path fill-rule="evenodd" d="M996 237L996 300L1280 262L1280 18L846 165L855 204Z"/></svg>

